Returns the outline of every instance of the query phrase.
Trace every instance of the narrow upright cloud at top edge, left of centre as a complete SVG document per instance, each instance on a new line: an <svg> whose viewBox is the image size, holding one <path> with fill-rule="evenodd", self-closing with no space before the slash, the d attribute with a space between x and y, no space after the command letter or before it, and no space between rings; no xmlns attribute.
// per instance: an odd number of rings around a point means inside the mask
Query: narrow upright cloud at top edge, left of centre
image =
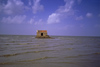
<svg viewBox="0 0 100 67"><path fill-rule="evenodd" d="M43 5L40 4L40 0L33 0L33 1L34 1L34 5L32 6L32 10L34 14L44 9Z"/></svg>

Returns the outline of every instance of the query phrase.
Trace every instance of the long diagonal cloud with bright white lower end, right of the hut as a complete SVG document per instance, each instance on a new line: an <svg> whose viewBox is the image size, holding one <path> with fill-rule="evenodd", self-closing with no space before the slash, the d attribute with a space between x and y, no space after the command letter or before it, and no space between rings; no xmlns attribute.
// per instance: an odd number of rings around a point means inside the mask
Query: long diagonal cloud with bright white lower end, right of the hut
<svg viewBox="0 0 100 67"><path fill-rule="evenodd" d="M49 15L47 19L47 24L59 23L61 19L67 18L68 16L74 15L74 10L72 9L74 0L64 0L65 5L60 6L56 12Z"/></svg>

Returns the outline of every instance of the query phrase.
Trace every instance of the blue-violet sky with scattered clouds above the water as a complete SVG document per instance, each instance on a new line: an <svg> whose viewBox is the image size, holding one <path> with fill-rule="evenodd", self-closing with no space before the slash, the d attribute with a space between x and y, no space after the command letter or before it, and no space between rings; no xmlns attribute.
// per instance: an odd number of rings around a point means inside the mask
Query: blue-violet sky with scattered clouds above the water
<svg viewBox="0 0 100 67"><path fill-rule="evenodd" d="M0 0L0 34L100 36L100 0Z"/></svg>

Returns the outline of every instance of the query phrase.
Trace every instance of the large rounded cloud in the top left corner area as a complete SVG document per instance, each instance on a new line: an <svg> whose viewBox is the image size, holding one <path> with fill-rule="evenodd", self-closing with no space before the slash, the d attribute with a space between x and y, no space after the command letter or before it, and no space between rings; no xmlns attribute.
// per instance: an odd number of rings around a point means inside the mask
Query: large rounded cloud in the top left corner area
<svg viewBox="0 0 100 67"><path fill-rule="evenodd" d="M23 12L24 3L21 0L8 0L4 5L3 10L6 14L18 14Z"/></svg>

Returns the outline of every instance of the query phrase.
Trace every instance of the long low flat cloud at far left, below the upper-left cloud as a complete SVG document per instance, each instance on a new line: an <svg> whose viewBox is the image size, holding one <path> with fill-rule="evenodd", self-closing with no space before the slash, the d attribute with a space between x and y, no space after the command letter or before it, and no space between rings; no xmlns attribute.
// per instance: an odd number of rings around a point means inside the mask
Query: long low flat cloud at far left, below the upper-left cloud
<svg viewBox="0 0 100 67"><path fill-rule="evenodd" d="M2 23L17 23L17 24L20 24L20 23L23 23L25 22L25 19L26 19L26 16L25 15L17 15L15 17L3 17L1 22Z"/></svg>

